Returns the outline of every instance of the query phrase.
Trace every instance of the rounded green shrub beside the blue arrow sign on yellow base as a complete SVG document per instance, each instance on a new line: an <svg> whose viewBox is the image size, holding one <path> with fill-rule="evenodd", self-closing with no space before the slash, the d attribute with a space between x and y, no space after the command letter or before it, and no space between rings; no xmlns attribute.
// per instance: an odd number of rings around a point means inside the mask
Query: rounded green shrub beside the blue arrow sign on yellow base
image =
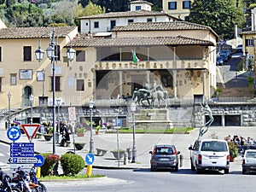
<svg viewBox="0 0 256 192"><path fill-rule="evenodd" d="M84 169L84 159L79 154L62 154L61 166L66 176L76 175Z"/></svg>

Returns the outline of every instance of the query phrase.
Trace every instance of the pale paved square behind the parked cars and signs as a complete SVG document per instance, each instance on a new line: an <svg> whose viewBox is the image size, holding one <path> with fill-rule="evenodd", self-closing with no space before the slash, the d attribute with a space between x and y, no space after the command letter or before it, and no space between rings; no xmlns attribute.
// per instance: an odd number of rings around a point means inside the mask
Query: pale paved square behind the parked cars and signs
<svg viewBox="0 0 256 192"><path fill-rule="evenodd" d="M1 126L0 128L0 142L12 143L6 135L6 130ZM148 169L150 167L149 160L150 150L153 150L155 144L175 144L177 150L183 154L183 168L189 168L189 145L193 144L198 137L199 129L190 131L189 134L136 134L136 148L137 148L137 162L128 162L124 165L124 158L117 160L110 152L117 149L117 134L105 134L95 135L93 133L94 150L96 154L96 148L102 148L108 150L104 156L95 155L95 161L93 167L104 168L133 168L133 169ZM233 137L234 135L242 137L256 138L256 127L210 127L204 138L210 138L212 134L218 136L218 138L224 138L228 135ZM119 133L119 148L125 149L132 148L132 134L120 134ZM72 143L70 147L59 147L59 144L55 144L55 154L65 154L68 151L74 151L73 137L71 137ZM26 134L22 134L17 143L29 143ZM35 152L38 153L52 153L53 143L52 140L47 142L42 138L34 138L32 140L35 146ZM85 155L88 154L90 148L90 131L85 133L84 137L75 137L75 143L86 143L82 150L76 150L75 153L81 155L85 159Z"/></svg>

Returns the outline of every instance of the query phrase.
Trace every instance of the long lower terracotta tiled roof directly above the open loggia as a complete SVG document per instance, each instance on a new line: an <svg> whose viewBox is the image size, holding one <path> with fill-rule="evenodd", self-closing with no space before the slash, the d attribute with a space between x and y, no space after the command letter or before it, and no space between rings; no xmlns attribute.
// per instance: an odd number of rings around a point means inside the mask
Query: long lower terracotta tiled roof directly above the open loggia
<svg viewBox="0 0 256 192"><path fill-rule="evenodd" d="M208 45L210 41L195 38L155 37L155 38L88 38L84 34L73 40L73 47L109 47L109 46L150 46L150 45Z"/></svg>

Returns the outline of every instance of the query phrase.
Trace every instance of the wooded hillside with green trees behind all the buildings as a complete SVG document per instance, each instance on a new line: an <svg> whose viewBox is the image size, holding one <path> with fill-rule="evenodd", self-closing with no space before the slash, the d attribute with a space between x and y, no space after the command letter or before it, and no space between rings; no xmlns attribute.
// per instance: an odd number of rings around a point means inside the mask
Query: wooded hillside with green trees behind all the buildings
<svg viewBox="0 0 256 192"><path fill-rule="evenodd" d="M79 26L80 16L129 11L131 1L0 0L0 17L7 26ZM153 3L153 10L161 10L162 0L147 1ZM189 21L211 26L220 38L233 38L235 25L250 26L249 8L255 3L256 0L195 0Z"/></svg>

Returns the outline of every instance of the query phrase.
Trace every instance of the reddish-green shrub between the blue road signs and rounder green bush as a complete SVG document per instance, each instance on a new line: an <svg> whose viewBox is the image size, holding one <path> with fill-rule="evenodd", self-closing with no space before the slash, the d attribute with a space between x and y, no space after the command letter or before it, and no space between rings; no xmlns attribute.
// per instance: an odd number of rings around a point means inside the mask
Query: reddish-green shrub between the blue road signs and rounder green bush
<svg viewBox="0 0 256 192"><path fill-rule="evenodd" d="M41 154L44 157L44 165L41 167L42 176L55 175L55 166L60 160L58 154Z"/></svg>

